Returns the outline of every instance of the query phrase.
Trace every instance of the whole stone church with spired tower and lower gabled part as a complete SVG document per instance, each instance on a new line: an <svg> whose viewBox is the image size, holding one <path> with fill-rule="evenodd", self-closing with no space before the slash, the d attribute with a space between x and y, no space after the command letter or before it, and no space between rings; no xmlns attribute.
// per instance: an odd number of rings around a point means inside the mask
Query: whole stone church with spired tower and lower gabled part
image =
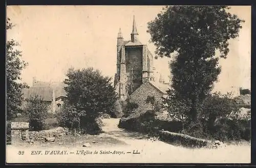
<svg viewBox="0 0 256 168"><path fill-rule="evenodd" d="M117 64L114 86L119 100L129 99L139 105L138 110L148 110L147 96L162 101L169 83L160 77L156 80L154 57L147 45L139 41L135 17L133 18L131 40L125 41L121 29L117 35Z"/></svg>

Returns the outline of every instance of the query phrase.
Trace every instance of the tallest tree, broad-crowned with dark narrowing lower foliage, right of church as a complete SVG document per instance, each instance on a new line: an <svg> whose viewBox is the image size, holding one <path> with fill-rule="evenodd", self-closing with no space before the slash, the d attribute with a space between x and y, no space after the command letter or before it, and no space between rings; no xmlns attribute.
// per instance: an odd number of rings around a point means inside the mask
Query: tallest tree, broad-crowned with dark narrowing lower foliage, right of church
<svg viewBox="0 0 256 168"><path fill-rule="evenodd" d="M229 52L228 40L238 37L243 20L227 6L171 6L148 23L160 57L171 57L172 88L188 101L188 118L197 122L198 108L221 72L219 58ZM220 57L216 57L219 50ZM188 98L188 99L187 99Z"/></svg>

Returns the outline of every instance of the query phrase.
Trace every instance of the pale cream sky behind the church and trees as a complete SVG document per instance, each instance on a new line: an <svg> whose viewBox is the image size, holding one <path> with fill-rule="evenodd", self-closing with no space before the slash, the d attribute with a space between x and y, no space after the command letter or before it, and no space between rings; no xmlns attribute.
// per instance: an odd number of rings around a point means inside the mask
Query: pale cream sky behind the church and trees
<svg viewBox="0 0 256 168"><path fill-rule="evenodd" d="M116 37L121 28L124 40L131 39L135 15L139 40L149 43L147 22L162 6L8 6L7 17L16 24L7 39L20 43L28 67L22 78L32 85L32 77L41 81L61 81L70 67L94 67L114 78L116 73ZM230 12L245 20L240 37L230 41L228 59L221 60L222 73L217 88L237 86L250 89L251 8L233 6ZM168 80L168 58L154 61L156 69Z"/></svg>

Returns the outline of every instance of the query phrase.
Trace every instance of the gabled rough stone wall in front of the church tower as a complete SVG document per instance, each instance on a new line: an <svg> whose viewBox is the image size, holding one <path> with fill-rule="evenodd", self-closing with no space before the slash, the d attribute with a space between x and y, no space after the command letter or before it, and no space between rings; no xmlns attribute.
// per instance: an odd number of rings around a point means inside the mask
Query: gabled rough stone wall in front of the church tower
<svg viewBox="0 0 256 168"><path fill-rule="evenodd" d="M130 95L130 101L138 103L138 108L135 109L135 113L145 112L146 110L152 110L151 104L146 103L147 96L154 96L158 102L163 101L163 94L160 93L150 83L143 83L136 91Z"/></svg>

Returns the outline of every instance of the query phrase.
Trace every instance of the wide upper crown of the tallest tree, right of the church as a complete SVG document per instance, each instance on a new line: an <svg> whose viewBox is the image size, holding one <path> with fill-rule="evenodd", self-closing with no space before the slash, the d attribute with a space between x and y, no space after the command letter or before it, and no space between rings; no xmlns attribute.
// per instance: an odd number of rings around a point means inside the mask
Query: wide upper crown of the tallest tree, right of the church
<svg viewBox="0 0 256 168"><path fill-rule="evenodd" d="M165 7L148 23L147 32L151 34L160 57L191 49L201 51L194 55L199 58L214 56L215 49L220 49L221 57L226 57L228 40L238 37L244 22L227 9L227 6Z"/></svg>

